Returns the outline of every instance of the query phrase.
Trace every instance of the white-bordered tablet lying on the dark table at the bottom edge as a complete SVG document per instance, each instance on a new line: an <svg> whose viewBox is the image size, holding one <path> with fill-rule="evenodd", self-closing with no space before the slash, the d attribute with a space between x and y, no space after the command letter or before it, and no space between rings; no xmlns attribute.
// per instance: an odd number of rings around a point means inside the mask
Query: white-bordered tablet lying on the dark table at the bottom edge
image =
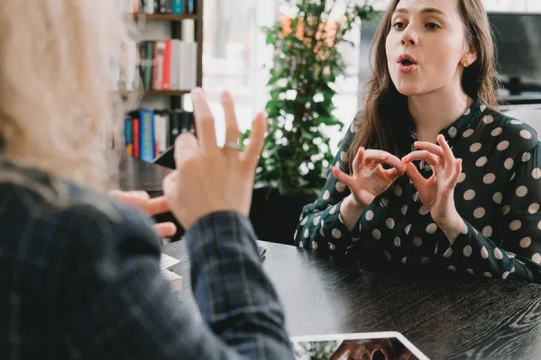
<svg viewBox="0 0 541 360"><path fill-rule="evenodd" d="M428 360L395 331L291 337L297 360Z"/></svg>

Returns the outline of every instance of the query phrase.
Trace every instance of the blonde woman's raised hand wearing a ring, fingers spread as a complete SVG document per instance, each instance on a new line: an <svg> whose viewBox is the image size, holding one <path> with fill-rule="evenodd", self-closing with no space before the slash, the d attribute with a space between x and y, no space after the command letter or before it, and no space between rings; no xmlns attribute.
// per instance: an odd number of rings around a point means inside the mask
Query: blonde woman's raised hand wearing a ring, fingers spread
<svg viewBox="0 0 541 360"><path fill-rule="evenodd" d="M171 211L188 229L199 218L215 211L248 215L252 202L255 167L263 147L267 118L253 121L250 143L244 152L234 148L239 129L231 95L222 95L225 112L225 147L215 138L215 120L200 89L192 91L197 126L196 139L183 133L175 141L176 170L166 176L163 191Z"/></svg>

